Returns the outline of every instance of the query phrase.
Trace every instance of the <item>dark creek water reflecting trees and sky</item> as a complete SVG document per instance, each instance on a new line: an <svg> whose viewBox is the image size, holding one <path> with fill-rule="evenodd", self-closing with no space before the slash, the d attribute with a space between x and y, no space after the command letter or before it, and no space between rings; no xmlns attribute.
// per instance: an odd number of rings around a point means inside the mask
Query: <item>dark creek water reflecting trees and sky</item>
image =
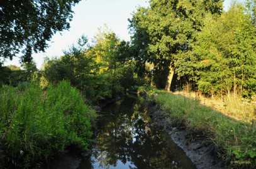
<svg viewBox="0 0 256 169"><path fill-rule="evenodd" d="M195 168L148 116L145 100L128 95L103 109L88 168Z"/></svg>

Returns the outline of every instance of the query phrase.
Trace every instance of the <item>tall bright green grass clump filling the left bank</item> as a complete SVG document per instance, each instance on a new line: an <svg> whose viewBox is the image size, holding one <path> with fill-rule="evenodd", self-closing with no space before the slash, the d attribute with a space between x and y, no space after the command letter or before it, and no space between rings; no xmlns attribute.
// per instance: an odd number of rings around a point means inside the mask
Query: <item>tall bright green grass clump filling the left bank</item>
<svg viewBox="0 0 256 169"><path fill-rule="evenodd" d="M45 91L3 86L0 106L0 162L7 168L40 166L69 145L88 148L96 114L66 81Z"/></svg>

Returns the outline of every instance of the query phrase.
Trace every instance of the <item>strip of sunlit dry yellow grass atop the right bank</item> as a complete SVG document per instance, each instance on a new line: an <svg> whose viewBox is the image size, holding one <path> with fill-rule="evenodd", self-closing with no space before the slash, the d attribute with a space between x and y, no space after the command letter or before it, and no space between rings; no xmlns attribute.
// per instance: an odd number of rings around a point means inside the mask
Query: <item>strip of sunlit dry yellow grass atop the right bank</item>
<svg viewBox="0 0 256 169"><path fill-rule="evenodd" d="M226 116L234 118L235 120L242 120L246 123L253 123L255 121L255 102L242 100L241 98L225 97L221 98L206 98L202 95L196 97L195 92L188 93L187 91L176 91L175 95L186 96L187 98L198 99L201 105L208 106L223 113ZM254 113L254 116L253 116ZM255 123L255 122L254 122Z"/></svg>

